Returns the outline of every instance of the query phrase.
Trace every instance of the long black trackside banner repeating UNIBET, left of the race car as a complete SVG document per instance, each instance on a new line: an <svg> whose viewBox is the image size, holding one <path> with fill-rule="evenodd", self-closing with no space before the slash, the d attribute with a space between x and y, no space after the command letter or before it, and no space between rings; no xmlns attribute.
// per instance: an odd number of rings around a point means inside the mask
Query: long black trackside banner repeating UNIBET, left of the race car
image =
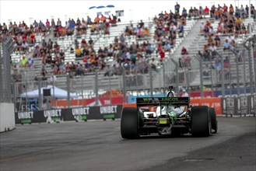
<svg viewBox="0 0 256 171"><path fill-rule="evenodd" d="M67 109L23 111L15 113L16 124L53 123L67 120L114 120L121 117L122 105L84 106Z"/></svg>

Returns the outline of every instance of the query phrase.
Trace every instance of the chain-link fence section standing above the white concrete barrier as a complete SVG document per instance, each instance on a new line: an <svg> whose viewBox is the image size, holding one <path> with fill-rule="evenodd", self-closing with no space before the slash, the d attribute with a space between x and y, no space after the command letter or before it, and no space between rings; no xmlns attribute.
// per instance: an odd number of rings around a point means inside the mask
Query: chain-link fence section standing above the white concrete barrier
<svg viewBox="0 0 256 171"><path fill-rule="evenodd" d="M0 40L0 102L12 102L11 59L12 37L3 37Z"/></svg>

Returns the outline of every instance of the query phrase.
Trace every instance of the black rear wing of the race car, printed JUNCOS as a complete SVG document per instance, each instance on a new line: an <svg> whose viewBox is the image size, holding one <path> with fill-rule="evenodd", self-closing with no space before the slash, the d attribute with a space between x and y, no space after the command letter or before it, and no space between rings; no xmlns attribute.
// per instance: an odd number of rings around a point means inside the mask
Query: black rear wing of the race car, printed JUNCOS
<svg viewBox="0 0 256 171"><path fill-rule="evenodd" d="M137 106L189 106L189 97L143 97L137 98Z"/></svg>

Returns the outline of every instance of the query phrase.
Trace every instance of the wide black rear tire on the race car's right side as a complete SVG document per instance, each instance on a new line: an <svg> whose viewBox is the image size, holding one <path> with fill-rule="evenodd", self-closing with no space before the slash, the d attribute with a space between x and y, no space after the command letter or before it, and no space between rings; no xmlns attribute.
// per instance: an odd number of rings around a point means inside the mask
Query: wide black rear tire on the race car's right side
<svg viewBox="0 0 256 171"><path fill-rule="evenodd" d="M211 122L208 106L193 106L191 108L191 134L195 137L208 137Z"/></svg>

